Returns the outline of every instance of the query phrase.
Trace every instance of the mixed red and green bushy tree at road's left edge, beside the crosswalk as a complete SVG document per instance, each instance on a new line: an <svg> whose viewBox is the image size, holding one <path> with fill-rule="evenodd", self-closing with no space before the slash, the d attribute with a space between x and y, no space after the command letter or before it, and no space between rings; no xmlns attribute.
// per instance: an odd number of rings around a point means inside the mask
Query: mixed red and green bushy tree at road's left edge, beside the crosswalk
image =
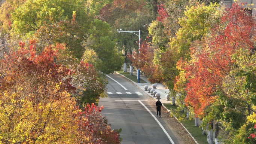
<svg viewBox="0 0 256 144"><path fill-rule="evenodd" d="M74 60L75 61L75 60ZM75 71L72 74L72 85L76 87L76 98L80 108L86 104L98 105L101 97L106 97L107 79L104 74L98 72L92 64L81 61L80 63L70 62L69 67Z"/></svg>

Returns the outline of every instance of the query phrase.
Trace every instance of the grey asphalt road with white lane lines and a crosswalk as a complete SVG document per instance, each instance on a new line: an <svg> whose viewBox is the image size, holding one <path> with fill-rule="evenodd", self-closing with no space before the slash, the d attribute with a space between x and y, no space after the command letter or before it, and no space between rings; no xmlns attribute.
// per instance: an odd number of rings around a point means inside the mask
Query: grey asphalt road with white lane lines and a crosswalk
<svg viewBox="0 0 256 144"><path fill-rule="evenodd" d="M108 97L98 104L103 105L111 128L122 128L121 144L180 144L168 125L156 117L142 89L118 74L109 74L108 80Z"/></svg>

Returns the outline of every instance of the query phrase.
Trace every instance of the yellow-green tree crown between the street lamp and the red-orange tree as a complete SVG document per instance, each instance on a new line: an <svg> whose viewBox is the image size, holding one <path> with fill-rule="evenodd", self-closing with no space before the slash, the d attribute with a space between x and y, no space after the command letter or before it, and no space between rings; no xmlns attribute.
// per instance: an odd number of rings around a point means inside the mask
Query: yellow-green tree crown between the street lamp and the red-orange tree
<svg viewBox="0 0 256 144"><path fill-rule="evenodd" d="M183 59L190 58L189 48L191 44L196 40L203 40L214 24L219 22L218 7L217 4L205 6L204 3L196 3L195 6L186 7L185 16L179 18L181 28L177 31L176 38L170 42L170 50L178 55L176 61L180 57Z"/></svg>

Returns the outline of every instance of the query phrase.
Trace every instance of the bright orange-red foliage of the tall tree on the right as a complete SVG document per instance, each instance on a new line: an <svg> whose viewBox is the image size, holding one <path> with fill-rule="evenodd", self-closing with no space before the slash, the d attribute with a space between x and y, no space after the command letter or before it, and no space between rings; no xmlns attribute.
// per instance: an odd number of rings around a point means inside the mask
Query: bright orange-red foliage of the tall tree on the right
<svg viewBox="0 0 256 144"><path fill-rule="evenodd" d="M185 67L189 79L185 102L194 108L196 115L203 115L205 108L215 101L216 87L222 86L223 78L234 67L234 54L238 55L241 49L250 51L253 48L251 37L255 34L255 21L241 9L238 3L227 9L201 54ZM191 48L191 52L196 51L193 49L196 48Z"/></svg>

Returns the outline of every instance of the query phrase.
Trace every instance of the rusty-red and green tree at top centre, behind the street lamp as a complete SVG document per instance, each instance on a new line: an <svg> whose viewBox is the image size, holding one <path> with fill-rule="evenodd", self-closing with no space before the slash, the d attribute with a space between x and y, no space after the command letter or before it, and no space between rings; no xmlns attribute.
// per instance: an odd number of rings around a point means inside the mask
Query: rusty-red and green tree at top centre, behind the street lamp
<svg viewBox="0 0 256 144"><path fill-rule="evenodd" d="M145 0L114 0L101 9L100 17L108 22L113 30L138 31L140 30L140 42L147 36L148 31L143 25L150 24L155 18L152 3ZM118 37L118 50L124 51L125 63L127 63L127 52L138 50L138 33L116 33Z"/></svg>

